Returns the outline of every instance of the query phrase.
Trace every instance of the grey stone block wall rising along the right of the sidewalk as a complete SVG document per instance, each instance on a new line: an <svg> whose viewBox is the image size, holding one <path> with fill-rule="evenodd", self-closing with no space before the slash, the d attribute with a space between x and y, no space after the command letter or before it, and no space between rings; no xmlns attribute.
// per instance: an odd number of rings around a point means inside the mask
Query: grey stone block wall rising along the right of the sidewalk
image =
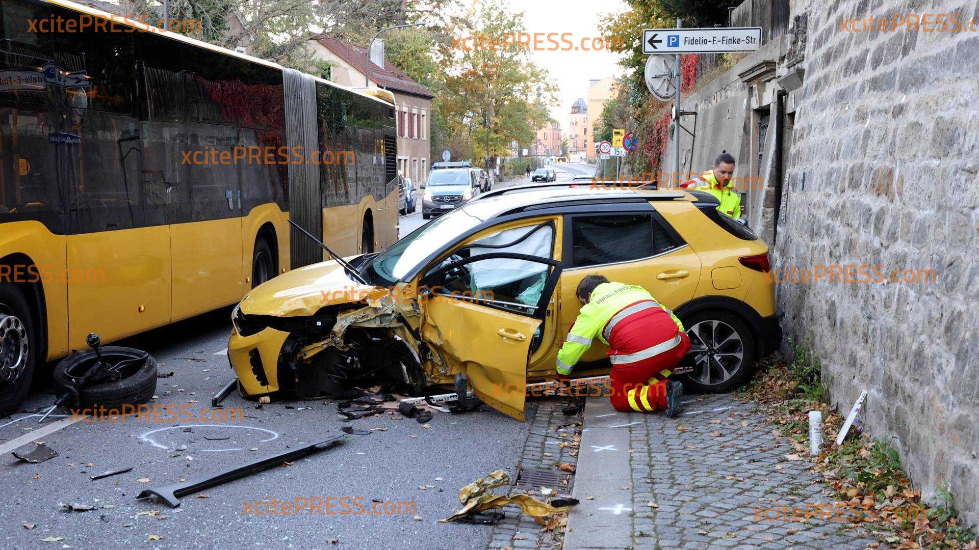
<svg viewBox="0 0 979 550"><path fill-rule="evenodd" d="M928 12L968 21L979 6L827 4L808 9L777 263L927 269L937 282L784 284L783 326L821 358L840 409L867 389L865 428L893 436L926 497L949 481L976 524L979 33L851 32L839 20Z"/></svg>

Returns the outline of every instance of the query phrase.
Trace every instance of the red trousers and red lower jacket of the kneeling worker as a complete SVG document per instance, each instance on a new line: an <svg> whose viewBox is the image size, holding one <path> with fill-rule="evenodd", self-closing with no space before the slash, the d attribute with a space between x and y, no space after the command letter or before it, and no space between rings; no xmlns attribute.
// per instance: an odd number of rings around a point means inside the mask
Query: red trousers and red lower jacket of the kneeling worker
<svg viewBox="0 0 979 550"><path fill-rule="evenodd" d="M668 317L669 318L669 317ZM670 320L673 323L673 320ZM654 331L646 335L645 340L653 344L669 341L676 337L676 325L673 334L663 336L664 331ZM658 335L658 336L657 336ZM609 340L610 354L616 351L615 332ZM667 406L667 377L663 373L676 367L680 359L690 349L690 339L686 333L679 333L680 343L658 355L625 365L613 364L609 376L612 386L612 406L619 411L653 412Z"/></svg>

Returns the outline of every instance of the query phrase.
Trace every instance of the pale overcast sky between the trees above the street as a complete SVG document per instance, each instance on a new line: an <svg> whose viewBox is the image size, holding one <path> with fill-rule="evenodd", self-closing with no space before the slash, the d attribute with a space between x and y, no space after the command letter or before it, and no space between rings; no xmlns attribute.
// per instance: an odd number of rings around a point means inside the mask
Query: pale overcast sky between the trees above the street
<svg viewBox="0 0 979 550"><path fill-rule="evenodd" d="M529 33L571 32L569 38L574 47L581 47L582 38L589 38L587 48L591 48L591 37L600 36L598 20L609 13L622 13L627 10L622 0L505 0L510 10L524 13ZM561 48L568 47L560 42ZM554 44L542 38L544 48ZM536 51L536 63L550 70L551 77L560 89L560 104L551 110L551 116L568 131L568 116L571 104L578 98L587 99L588 80L604 76L618 76L622 68L618 66L619 56L610 51Z"/></svg>

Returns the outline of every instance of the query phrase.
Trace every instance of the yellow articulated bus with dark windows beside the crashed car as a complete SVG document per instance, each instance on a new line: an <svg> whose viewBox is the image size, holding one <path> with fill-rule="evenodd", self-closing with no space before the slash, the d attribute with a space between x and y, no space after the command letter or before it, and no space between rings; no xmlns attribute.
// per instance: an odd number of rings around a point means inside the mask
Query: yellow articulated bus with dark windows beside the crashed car
<svg viewBox="0 0 979 550"><path fill-rule="evenodd" d="M390 92L92 23L109 18L0 2L0 413L88 333L118 340L322 261L290 218L344 255L397 239Z"/></svg>

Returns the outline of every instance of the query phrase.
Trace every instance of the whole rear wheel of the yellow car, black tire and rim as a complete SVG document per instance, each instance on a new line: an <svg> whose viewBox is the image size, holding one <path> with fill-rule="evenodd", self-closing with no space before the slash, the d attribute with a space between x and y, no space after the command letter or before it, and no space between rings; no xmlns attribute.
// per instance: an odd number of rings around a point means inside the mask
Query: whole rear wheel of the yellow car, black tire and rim
<svg viewBox="0 0 979 550"><path fill-rule="evenodd" d="M744 319L723 309L704 309L680 321L690 337L690 351L680 364L694 366L694 372L677 377L684 389L691 393L721 393L751 378L758 360L758 344Z"/></svg>

